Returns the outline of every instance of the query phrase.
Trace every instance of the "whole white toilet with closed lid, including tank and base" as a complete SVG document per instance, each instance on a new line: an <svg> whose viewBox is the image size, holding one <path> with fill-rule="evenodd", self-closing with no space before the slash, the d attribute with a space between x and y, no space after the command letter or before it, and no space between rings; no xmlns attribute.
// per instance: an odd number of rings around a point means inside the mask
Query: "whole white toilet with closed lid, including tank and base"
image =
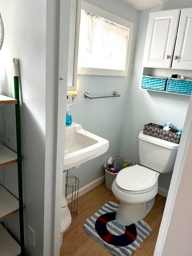
<svg viewBox="0 0 192 256"><path fill-rule="evenodd" d="M112 184L112 192L120 201L116 221L123 226L142 220L151 210L158 192L158 176L173 171L179 147L143 132L138 139L142 166L124 168Z"/></svg>

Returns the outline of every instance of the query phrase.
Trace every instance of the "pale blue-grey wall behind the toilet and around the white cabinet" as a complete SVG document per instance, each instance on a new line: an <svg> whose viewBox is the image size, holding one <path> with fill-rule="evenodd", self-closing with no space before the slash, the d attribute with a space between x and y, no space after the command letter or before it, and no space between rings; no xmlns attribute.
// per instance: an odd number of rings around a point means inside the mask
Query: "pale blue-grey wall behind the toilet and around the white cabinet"
<svg viewBox="0 0 192 256"><path fill-rule="evenodd" d="M140 22L135 44L127 105L124 111L124 126L120 148L120 155L122 157L130 158L138 164L139 152L136 138L143 129L144 124L150 122L156 124L172 122L178 130L182 129L190 98L188 96L148 92L139 89L149 13L188 7L192 7L191 0L171 0L140 12ZM180 74L182 74L182 71L180 71ZM192 77L192 72L190 72L190 76ZM171 174L161 174L159 177L159 186L168 189L170 179Z"/></svg>

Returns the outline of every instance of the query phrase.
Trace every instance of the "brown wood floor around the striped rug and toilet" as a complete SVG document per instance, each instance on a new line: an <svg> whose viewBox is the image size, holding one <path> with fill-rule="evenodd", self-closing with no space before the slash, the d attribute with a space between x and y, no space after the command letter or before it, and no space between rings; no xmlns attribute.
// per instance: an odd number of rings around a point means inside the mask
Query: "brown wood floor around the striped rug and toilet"
<svg viewBox="0 0 192 256"><path fill-rule="evenodd" d="M104 183L79 198L78 216L72 220L70 228L64 233L60 256L112 256L98 242L90 238L83 229L86 219L108 201L119 203ZM156 195L152 210L144 218L152 228L152 233L132 254L133 256L153 256L165 201L166 198Z"/></svg>

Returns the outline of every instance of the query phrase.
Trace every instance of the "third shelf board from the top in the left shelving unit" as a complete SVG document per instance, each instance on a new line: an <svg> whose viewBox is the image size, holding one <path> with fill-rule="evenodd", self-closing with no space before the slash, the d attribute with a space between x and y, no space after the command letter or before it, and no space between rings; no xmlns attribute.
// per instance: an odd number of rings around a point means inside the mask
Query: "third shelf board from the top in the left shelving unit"
<svg viewBox="0 0 192 256"><path fill-rule="evenodd" d="M0 221L18 211L19 201L0 185Z"/></svg>

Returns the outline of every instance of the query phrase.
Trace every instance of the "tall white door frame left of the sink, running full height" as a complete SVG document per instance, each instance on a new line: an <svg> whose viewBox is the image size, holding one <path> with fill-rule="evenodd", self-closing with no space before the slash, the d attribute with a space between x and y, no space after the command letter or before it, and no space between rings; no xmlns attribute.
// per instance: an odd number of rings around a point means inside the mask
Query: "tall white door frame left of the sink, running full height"
<svg viewBox="0 0 192 256"><path fill-rule="evenodd" d="M70 0L47 0L44 256L59 256L70 32ZM60 26L60 23L64 26ZM60 79L62 78L62 79Z"/></svg>

